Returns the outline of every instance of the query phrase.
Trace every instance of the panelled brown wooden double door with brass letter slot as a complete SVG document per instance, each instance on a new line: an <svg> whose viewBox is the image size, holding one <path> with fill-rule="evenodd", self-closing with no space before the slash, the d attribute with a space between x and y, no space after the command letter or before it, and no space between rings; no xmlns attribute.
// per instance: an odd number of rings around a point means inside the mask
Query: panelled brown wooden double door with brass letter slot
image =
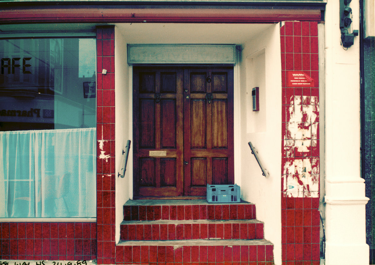
<svg viewBox="0 0 375 265"><path fill-rule="evenodd" d="M234 184L233 67L133 67L135 197Z"/></svg>

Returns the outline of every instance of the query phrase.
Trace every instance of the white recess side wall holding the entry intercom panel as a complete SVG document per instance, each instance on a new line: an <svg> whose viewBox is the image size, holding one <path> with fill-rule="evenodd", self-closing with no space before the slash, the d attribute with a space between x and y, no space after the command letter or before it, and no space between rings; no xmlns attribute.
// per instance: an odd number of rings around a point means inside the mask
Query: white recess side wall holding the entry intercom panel
<svg viewBox="0 0 375 265"><path fill-rule="evenodd" d="M264 237L274 244L275 264L281 264L281 56L280 27L271 25L246 42L240 64L241 193L256 204L265 222ZM259 87L259 111L252 111L252 88ZM236 138L236 137L235 137ZM248 142L269 172L268 178L251 154Z"/></svg>

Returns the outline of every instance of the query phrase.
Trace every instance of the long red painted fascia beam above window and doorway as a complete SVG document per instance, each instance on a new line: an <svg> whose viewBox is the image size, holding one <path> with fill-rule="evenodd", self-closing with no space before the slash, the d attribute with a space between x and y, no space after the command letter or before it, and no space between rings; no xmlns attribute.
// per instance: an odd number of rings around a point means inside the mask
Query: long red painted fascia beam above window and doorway
<svg viewBox="0 0 375 265"><path fill-rule="evenodd" d="M45 8L0 10L1 23L321 21L320 9Z"/></svg>

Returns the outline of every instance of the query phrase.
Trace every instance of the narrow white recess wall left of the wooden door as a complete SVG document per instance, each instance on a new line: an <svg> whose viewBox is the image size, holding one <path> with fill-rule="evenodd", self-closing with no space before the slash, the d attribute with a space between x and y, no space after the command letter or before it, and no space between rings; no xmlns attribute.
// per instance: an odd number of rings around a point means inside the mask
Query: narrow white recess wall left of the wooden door
<svg viewBox="0 0 375 265"><path fill-rule="evenodd" d="M123 167L123 158L127 140L132 139L132 71L127 65L126 40L123 32L115 27L115 241L120 240L120 223L123 220L123 205L133 197L133 148L130 144L129 158L125 177L117 176Z"/></svg>

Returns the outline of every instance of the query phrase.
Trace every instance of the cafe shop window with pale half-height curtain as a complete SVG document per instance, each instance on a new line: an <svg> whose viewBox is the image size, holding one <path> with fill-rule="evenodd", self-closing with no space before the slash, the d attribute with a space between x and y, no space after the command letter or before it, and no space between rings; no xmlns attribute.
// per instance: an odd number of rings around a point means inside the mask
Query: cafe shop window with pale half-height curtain
<svg viewBox="0 0 375 265"><path fill-rule="evenodd" d="M95 39L0 39L0 59L0 217L95 217Z"/></svg>

